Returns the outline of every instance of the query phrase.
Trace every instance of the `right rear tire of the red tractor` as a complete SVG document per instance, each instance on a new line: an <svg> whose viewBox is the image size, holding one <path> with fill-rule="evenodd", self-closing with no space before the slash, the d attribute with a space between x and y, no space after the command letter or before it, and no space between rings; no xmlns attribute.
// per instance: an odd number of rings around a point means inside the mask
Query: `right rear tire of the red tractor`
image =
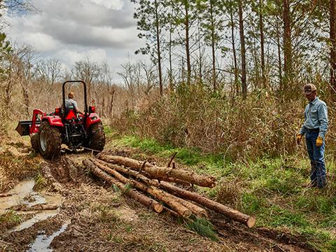
<svg viewBox="0 0 336 252"><path fill-rule="evenodd" d="M105 132L102 122L91 125L88 132L88 141L85 147L92 150L103 151L105 146Z"/></svg>

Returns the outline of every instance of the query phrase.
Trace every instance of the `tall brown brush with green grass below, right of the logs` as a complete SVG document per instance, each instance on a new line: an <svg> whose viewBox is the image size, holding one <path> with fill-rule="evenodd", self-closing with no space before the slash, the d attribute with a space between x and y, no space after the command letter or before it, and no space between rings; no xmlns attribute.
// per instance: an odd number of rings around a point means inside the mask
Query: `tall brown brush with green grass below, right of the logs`
<svg viewBox="0 0 336 252"><path fill-rule="evenodd" d="M120 146L167 158L177 152L176 162L216 176L218 186L204 193L256 216L257 227L293 232L319 251L335 251L335 110L327 101L328 187L307 188L305 144L295 142L305 104L304 97L283 102L262 91L230 99L197 87L139 113L127 111L111 126L121 133Z"/></svg>

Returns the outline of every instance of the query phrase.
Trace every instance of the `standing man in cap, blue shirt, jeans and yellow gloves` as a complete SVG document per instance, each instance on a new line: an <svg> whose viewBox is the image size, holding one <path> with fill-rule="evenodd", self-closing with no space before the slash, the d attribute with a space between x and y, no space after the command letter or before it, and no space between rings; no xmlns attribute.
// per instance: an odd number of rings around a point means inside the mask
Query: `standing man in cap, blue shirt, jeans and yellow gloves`
<svg viewBox="0 0 336 252"><path fill-rule="evenodd" d="M297 144L300 144L302 136L306 135L307 152L311 163L310 187L324 188L326 185L324 162L324 139L328 130L328 108L325 102L317 97L316 87L306 84L303 93L309 103L304 109L304 124L297 134Z"/></svg>

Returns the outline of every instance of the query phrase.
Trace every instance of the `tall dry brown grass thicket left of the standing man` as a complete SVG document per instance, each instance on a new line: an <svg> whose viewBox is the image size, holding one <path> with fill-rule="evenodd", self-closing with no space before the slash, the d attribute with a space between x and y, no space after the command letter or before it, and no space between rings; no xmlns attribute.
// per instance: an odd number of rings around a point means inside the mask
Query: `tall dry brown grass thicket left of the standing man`
<svg viewBox="0 0 336 252"><path fill-rule="evenodd" d="M154 138L161 143L222 153L234 160L276 157L297 152L295 134L303 123L307 103L302 95L283 103L264 90L248 97L229 97L207 87L180 85L174 94L112 122L121 132ZM335 111L329 110L330 120ZM332 129L329 132L333 132ZM328 143L328 148L335 144Z"/></svg>

